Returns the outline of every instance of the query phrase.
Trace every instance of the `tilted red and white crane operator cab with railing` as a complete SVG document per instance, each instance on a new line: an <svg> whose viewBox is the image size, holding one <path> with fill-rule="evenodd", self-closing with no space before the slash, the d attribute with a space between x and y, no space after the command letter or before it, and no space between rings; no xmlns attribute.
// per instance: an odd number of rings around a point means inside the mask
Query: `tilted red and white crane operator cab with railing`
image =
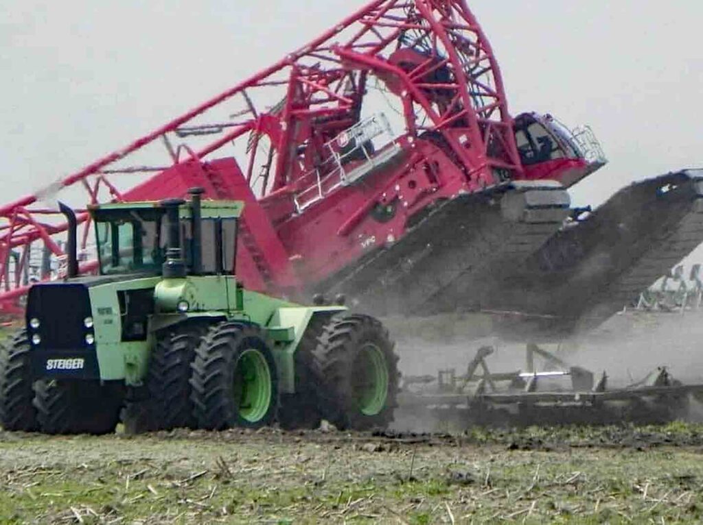
<svg viewBox="0 0 703 525"><path fill-rule="evenodd" d="M558 180L570 187L607 164L590 127L572 131L549 114L518 115L515 142L527 180Z"/></svg>

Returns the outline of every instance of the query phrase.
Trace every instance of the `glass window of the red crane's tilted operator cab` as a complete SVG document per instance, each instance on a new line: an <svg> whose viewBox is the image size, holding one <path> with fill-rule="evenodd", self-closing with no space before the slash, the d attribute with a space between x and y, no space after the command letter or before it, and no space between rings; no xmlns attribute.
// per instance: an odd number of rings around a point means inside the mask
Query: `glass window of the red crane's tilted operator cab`
<svg viewBox="0 0 703 525"><path fill-rule="evenodd" d="M515 142L523 166L531 166L555 159L576 159L578 152L562 129L550 119L536 119L531 114L515 121Z"/></svg>

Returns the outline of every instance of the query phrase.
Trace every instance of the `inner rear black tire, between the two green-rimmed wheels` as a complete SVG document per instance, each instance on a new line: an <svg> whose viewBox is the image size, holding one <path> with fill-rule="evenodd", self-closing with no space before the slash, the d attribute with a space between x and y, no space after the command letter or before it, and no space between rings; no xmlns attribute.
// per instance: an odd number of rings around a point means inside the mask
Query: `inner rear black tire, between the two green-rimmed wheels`
<svg viewBox="0 0 703 525"><path fill-rule="evenodd" d="M322 422L312 361L318 338L329 321L328 315L313 317L295 350L295 394L280 394L276 416L278 425L285 430L315 429Z"/></svg>

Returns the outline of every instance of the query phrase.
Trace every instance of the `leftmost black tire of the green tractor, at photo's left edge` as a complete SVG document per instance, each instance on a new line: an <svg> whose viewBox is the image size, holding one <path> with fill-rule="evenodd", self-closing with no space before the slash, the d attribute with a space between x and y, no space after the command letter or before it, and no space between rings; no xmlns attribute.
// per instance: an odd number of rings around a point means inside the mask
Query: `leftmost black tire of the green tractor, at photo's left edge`
<svg viewBox="0 0 703 525"><path fill-rule="evenodd" d="M22 330L0 346L0 425L4 430L35 432L34 381L30 341Z"/></svg>

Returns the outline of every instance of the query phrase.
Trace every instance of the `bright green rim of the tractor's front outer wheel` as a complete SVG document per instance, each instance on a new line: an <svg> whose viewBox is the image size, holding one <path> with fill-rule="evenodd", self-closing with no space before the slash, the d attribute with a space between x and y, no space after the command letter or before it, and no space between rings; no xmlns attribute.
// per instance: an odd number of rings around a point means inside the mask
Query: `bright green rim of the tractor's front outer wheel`
<svg viewBox="0 0 703 525"><path fill-rule="evenodd" d="M240 355L234 370L237 413L250 423L266 416L271 406L271 369L260 350L250 348Z"/></svg>

